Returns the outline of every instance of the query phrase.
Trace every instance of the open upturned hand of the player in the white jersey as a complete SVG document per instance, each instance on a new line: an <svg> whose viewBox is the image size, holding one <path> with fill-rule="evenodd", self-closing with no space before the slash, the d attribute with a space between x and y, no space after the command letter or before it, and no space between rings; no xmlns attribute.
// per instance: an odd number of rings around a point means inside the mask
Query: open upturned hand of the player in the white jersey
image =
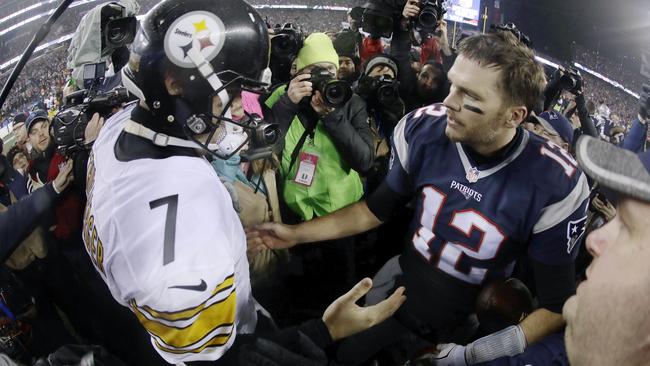
<svg viewBox="0 0 650 366"><path fill-rule="evenodd" d="M361 307L356 302L372 288L372 280L364 278L350 291L336 299L323 313L323 322L334 341L364 331L392 316L406 301L400 287L379 304Z"/></svg>

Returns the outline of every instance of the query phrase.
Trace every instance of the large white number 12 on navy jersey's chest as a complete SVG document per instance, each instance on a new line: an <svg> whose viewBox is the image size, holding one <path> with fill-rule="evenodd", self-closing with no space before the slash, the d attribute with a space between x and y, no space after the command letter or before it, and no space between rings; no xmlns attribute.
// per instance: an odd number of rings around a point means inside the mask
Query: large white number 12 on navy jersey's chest
<svg viewBox="0 0 650 366"><path fill-rule="evenodd" d="M413 246L427 261L432 260L432 244L436 240L434 234L438 216L445 204L447 196L432 186L422 190L423 204L420 228L413 235ZM487 269L470 267L469 273L460 271L457 265L463 256L477 260L493 259L505 241L506 236L496 224L485 218L474 209L455 211L449 226L467 237L467 242L445 241L440 245L436 266L443 272L472 284L481 284L487 274ZM473 232L480 235L478 243L469 243Z"/></svg>

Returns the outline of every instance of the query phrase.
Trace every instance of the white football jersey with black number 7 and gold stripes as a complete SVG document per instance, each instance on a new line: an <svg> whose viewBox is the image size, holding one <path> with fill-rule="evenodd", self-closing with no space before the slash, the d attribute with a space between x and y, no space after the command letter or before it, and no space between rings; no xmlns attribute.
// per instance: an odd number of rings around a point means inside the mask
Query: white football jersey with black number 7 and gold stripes
<svg viewBox="0 0 650 366"><path fill-rule="evenodd" d="M166 361L216 360L257 322L244 230L207 160L116 158L131 110L106 121L92 149L86 250Z"/></svg>

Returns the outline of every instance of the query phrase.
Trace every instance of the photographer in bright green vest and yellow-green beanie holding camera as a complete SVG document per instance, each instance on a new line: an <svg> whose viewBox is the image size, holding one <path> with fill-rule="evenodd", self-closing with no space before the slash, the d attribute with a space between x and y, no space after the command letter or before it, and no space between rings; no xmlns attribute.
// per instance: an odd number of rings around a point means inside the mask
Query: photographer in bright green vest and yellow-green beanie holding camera
<svg viewBox="0 0 650 366"><path fill-rule="evenodd" d="M324 216L363 196L360 174L373 164L372 131L366 103L349 84L336 80L338 65L332 41L324 33L314 33L298 53L297 75L266 100L283 133L279 191L288 208L283 222ZM291 292L285 297L291 299L289 306L318 310L355 282L351 240L291 252L283 284ZM306 288L319 291L303 293Z"/></svg>

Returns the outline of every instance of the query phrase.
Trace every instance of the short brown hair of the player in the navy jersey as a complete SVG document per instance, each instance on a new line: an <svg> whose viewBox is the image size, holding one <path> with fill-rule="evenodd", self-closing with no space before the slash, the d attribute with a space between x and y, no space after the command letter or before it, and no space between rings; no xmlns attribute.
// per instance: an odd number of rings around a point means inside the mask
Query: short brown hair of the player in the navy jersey
<svg viewBox="0 0 650 366"><path fill-rule="evenodd" d="M542 99L546 77L532 50L510 32L478 34L464 39L458 53L481 66L501 70L498 87L510 105L524 105L528 113Z"/></svg>

